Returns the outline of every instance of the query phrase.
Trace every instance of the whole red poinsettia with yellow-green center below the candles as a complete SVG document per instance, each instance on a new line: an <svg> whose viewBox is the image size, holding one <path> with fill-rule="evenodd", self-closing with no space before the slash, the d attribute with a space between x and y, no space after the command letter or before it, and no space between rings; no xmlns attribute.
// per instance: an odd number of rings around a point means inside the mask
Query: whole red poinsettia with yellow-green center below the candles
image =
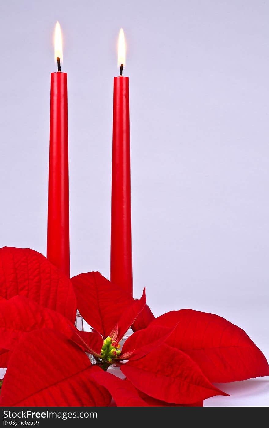
<svg viewBox="0 0 269 428"><path fill-rule="evenodd" d="M91 332L74 326L77 308ZM0 249L0 348L1 406L202 406L228 395L214 382L269 375L224 318L192 309L155 318L145 289L135 300L98 272L69 279L30 249Z"/></svg>

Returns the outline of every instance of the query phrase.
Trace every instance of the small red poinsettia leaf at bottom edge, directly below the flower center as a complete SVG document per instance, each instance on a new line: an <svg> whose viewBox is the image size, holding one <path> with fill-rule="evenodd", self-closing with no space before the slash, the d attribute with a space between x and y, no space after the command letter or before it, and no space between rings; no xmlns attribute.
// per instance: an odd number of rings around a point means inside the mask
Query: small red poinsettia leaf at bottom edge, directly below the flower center
<svg viewBox="0 0 269 428"><path fill-rule="evenodd" d="M128 380L119 379L96 366L92 366L91 376L108 389L117 406L148 407L148 404L139 397L138 391Z"/></svg>

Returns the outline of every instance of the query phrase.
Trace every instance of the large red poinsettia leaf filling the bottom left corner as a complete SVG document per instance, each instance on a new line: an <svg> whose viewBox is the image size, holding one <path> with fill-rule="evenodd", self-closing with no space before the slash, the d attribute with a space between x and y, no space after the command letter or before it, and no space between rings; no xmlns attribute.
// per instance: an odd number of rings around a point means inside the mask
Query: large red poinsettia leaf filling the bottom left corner
<svg viewBox="0 0 269 428"><path fill-rule="evenodd" d="M89 358L53 330L26 334L12 352L1 406L108 406L109 392L91 377Z"/></svg>

